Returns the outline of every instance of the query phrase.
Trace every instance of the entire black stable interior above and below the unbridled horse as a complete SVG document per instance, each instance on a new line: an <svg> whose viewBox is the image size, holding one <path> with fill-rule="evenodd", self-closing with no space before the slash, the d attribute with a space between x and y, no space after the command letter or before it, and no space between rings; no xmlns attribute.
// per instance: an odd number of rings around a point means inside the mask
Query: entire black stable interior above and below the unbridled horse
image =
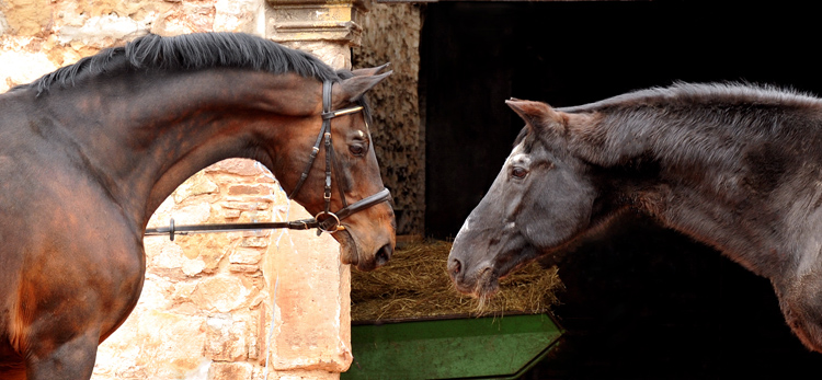
<svg viewBox="0 0 822 380"><path fill-rule="evenodd" d="M504 100L584 104L675 81L822 94L812 3L438 2L425 5L426 235L456 235L523 122ZM822 147L821 147L822 149ZM558 258L568 333L522 379L791 379L822 354L767 279L630 217Z"/></svg>

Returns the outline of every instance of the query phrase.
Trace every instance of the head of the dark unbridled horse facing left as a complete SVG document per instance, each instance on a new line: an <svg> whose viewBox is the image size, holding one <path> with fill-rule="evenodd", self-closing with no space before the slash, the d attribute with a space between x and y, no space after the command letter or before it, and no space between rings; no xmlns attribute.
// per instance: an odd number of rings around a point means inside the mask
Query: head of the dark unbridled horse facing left
<svg viewBox="0 0 822 380"><path fill-rule="evenodd" d="M457 290L475 297L491 296L500 277L585 230L597 194L589 163L567 140L575 118L584 116L538 102L506 103L526 126L448 256Z"/></svg>

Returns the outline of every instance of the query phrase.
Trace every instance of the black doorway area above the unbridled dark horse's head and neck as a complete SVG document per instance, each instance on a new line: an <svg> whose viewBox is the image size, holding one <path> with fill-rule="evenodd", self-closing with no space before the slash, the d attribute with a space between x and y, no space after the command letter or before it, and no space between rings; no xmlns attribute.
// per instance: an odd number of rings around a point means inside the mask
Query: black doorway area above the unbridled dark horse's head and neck
<svg viewBox="0 0 822 380"><path fill-rule="evenodd" d="M553 106L675 81L746 81L822 93L811 5L439 2L421 44L426 234L453 237L523 123L511 96Z"/></svg>

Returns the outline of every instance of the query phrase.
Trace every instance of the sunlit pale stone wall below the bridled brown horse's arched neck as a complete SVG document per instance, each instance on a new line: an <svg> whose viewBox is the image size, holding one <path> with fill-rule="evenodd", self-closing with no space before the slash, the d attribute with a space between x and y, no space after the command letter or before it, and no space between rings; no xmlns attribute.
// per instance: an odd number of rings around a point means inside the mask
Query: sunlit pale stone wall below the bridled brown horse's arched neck
<svg viewBox="0 0 822 380"><path fill-rule="evenodd" d="M302 212L259 163L237 159L186 181L149 226ZM145 243L142 296L100 346L93 379L333 379L347 369L349 283L334 279L347 279L349 269L326 260L339 250L333 239L262 230Z"/></svg>

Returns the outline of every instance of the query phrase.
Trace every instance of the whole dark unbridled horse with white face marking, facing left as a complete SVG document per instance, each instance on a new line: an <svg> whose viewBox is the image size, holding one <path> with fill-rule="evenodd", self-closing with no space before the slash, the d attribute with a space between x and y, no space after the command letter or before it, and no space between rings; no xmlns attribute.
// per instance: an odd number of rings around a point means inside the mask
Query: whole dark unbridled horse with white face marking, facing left
<svg viewBox="0 0 822 380"><path fill-rule="evenodd" d="M455 238L457 290L490 297L525 263L641 212L768 278L822 353L822 100L677 83L566 108L506 103L526 126Z"/></svg>

